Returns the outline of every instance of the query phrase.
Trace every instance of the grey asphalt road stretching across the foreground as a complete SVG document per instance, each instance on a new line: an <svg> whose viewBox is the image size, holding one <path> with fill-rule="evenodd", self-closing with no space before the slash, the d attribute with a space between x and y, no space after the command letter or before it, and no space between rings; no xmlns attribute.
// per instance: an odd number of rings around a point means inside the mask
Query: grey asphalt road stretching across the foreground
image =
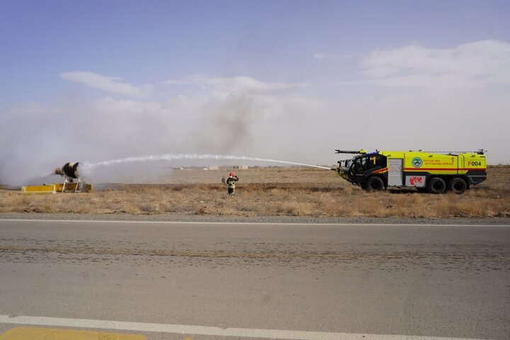
<svg viewBox="0 0 510 340"><path fill-rule="evenodd" d="M510 226L0 220L0 334L30 324L510 339Z"/></svg>

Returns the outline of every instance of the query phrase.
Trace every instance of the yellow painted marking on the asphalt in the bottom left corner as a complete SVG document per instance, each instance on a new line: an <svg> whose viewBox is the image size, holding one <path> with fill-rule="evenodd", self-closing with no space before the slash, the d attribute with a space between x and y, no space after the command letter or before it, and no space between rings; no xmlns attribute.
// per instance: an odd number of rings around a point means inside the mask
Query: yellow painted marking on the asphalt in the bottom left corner
<svg viewBox="0 0 510 340"><path fill-rule="evenodd" d="M147 340L142 334L81 331L39 327L16 327L0 335L0 340Z"/></svg>

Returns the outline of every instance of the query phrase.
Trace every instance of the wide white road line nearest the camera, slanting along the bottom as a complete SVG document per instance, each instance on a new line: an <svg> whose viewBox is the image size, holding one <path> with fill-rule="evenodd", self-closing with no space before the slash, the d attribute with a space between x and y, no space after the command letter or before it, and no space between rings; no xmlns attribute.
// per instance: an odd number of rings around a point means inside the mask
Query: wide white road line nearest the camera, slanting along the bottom
<svg viewBox="0 0 510 340"><path fill-rule="evenodd" d="M186 324L152 324L146 322L121 322L60 317L9 317L0 315L0 324L25 324L52 327L79 327L119 331L150 331L158 333L193 334L205 336L242 336L247 338L289 340L480 340L445 338L438 336L411 336L392 334L331 333L324 331L288 331L279 329L220 328Z"/></svg>

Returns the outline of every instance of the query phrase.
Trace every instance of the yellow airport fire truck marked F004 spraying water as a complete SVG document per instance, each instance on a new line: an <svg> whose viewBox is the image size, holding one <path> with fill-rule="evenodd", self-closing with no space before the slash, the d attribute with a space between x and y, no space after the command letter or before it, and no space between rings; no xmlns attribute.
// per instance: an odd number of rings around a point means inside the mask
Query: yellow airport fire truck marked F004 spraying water
<svg viewBox="0 0 510 340"><path fill-rule="evenodd" d="M352 159L339 161L337 171L367 191L411 187L420 192L460 194L487 179L483 149L475 152L335 151L356 154Z"/></svg>

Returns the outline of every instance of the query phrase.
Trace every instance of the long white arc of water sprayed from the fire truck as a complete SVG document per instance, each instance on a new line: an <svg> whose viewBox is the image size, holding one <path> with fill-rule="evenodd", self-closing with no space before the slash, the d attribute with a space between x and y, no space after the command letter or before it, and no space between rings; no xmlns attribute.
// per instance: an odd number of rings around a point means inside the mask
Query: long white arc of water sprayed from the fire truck
<svg viewBox="0 0 510 340"><path fill-rule="evenodd" d="M271 163L279 163L279 164L310 166L312 168L329 170L329 168L327 166L280 161L277 159L266 159L266 158L246 157L246 156L233 156L233 155L225 155L225 154L157 154L157 155L149 155L149 156L142 156L142 157L128 157L128 158L123 158L123 159L111 159L109 161L98 162L98 163L85 163L84 165L87 167L90 167L90 168L94 168L96 166L112 166L115 164L125 164L125 163L134 163L134 162L138 163L138 162L147 162L147 161L174 161L176 159L210 159L210 160L237 160L237 161L250 161L250 162L271 162Z"/></svg>

